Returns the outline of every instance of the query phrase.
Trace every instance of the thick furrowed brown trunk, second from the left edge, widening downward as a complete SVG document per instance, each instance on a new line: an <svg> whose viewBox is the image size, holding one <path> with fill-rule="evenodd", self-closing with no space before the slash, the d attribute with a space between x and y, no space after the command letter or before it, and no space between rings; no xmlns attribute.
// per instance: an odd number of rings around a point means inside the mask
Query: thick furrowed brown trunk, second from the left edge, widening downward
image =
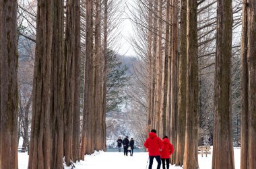
<svg viewBox="0 0 256 169"><path fill-rule="evenodd" d="M53 2L38 1L33 107L28 168L51 168ZM44 127L44 128L43 128ZM40 160L38 160L40 159Z"/></svg>

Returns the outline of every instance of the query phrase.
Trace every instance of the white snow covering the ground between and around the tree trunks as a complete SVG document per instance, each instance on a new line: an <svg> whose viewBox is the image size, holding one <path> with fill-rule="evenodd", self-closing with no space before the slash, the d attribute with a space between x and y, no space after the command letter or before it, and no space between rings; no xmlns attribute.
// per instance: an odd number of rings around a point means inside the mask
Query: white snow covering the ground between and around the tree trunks
<svg viewBox="0 0 256 169"><path fill-rule="evenodd" d="M211 149L212 150L212 149ZM234 162L236 169L240 168L240 148L234 148ZM225 150L223 150L225 151ZM128 154L129 155L129 154ZM26 153L19 153L19 168L28 168L28 155ZM212 169L212 154L198 155L200 169ZM75 169L146 169L148 161L148 153L134 152L133 156L123 156L123 152L95 152L92 155L86 155L85 160L77 162ZM153 169L156 168L156 160L154 160ZM148 168L148 167L147 167ZM162 166L161 166L162 168ZM65 169L70 169L66 167ZM170 166L170 169L181 169L181 167Z"/></svg>

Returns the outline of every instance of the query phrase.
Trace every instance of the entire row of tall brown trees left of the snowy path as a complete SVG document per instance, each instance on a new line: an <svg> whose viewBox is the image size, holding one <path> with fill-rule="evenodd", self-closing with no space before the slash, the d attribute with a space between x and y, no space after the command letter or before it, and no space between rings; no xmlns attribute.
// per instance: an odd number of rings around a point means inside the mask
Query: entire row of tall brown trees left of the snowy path
<svg viewBox="0 0 256 169"><path fill-rule="evenodd" d="M18 2L0 3L1 21L7 23L0 29L1 66L5 66L1 77L7 78L1 78L5 98L1 99L0 168L18 168L18 119L19 135L30 147L28 168L63 168L63 157L69 166L94 150L106 150L106 60L115 1L38 0L36 15L30 3L19 5L19 16L26 20L21 27L17 26ZM30 24L33 28L28 30ZM32 97L19 98L19 117L18 33L36 43Z"/></svg>

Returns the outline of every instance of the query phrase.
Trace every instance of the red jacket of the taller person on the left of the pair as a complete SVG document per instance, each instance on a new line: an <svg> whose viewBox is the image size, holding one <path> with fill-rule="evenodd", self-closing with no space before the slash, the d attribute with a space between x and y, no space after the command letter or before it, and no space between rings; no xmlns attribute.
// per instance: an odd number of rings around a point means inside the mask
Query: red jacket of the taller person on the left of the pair
<svg viewBox="0 0 256 169"><path fill-rule="evenodd" d="M162 140L156 136L156 133L150 132L144 146L148 148L149 156L159 156L159 151L162 150L164 145L162 144Z"/></svg>

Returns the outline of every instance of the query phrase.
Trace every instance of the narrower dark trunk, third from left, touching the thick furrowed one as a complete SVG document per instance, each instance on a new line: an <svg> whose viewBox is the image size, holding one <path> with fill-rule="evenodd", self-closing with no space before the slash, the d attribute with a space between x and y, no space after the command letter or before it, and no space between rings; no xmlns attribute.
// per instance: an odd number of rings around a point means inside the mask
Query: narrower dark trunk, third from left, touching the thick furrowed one
<svg viewBox="0 0 256 169"><path fill-rule="evenodd" d="M53 9L53 50L51 95L51 168L63 168L64 107L65 107L65 55L64 55L64 1L55 1Z"/></svg>

